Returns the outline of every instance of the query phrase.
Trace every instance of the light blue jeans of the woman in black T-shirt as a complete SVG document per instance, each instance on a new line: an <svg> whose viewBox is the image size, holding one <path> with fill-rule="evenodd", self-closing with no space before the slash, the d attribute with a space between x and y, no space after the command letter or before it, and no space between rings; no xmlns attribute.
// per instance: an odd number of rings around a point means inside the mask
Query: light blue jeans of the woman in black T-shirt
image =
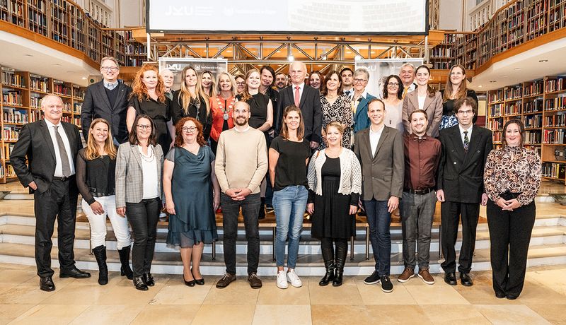
<svg viewBox="0 0 566 325"><path fill-rule="evenodd" d="M273 192L273 209L277 223L275 237L275 260L277 266L284 266L285 240L289 236L289 256L287 267L295 268L296 256L299 254L299 240L303 230L303 216L306 208L308 191L303 185L284 187Z"/></svg>

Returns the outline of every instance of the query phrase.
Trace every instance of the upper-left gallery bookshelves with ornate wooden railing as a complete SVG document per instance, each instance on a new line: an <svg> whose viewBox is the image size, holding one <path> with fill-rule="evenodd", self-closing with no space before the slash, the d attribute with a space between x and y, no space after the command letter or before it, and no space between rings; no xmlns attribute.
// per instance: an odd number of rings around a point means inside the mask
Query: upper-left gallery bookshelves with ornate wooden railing
<svg viewBox="0 0 566 325"><path fill-rule="evenodd" d="M112 56L124 66L139 66L146 57L146 47L131 31L106 28L70 0L0 0L0 20L67 45L97 63Z"/></svg>

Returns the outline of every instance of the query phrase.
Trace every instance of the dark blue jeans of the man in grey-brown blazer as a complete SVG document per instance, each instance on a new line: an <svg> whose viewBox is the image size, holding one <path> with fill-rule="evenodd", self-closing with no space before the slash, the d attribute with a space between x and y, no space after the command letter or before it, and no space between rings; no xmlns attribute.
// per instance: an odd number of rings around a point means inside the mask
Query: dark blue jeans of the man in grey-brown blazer
<svg viewBox="0 0 566 325"><path fill-rule="evenodd" d="M391 269L391 213L387 211L387 201L364 201L369 224L369 240L374 250L376 271L379 276L389 276Z"/></svg>

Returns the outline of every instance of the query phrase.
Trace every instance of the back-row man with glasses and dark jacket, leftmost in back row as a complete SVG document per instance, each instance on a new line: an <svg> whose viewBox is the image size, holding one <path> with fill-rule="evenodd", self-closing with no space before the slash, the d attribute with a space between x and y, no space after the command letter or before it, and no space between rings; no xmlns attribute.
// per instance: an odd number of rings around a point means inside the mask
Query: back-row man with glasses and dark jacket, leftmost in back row
<svg viewBox="0 0 566 325"><path fill-rule="evenodd" d="M83 107L81 108L81 124L84 140L88 138L88 128L93 119L101 117L110 122L112 138L119 145L127 141L126 113L129 93L132 88L118 81L120 65L113 57L104 57L100 61L100 73L103 81L93 83L86 88Z"/></svg>

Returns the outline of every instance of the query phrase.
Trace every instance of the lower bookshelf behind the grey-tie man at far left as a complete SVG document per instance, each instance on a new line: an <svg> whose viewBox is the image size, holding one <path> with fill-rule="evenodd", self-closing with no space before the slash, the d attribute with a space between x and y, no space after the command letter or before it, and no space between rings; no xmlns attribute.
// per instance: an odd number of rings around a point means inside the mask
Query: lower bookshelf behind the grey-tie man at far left
<svg viewBox="0 0 566 325"><path fill-rule="evenodd" d="M47 94L58 95L63 100L62 120L80 128L86 88L6 66L0 66L0 73L0 183L6 183L17 179L10 165L10 153L21 127L42 118L41 98Z"/></svg>

